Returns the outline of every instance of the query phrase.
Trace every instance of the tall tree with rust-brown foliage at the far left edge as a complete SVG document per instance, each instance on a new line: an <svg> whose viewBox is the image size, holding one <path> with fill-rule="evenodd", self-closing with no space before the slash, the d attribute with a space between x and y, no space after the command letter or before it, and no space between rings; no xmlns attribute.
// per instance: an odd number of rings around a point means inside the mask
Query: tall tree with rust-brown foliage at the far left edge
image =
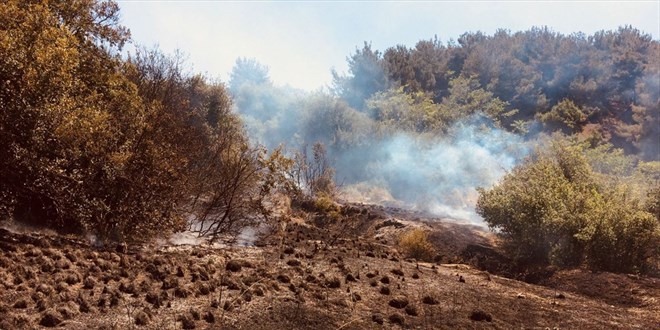
<svg viewBox="0 0 660 330"><path fill-rule="evenodd" d="M123 167L143 116L108 50L128 40L117 12L111 1L0 4L0 203L15 218L81 231L111 212L96 184Z"/></svg>

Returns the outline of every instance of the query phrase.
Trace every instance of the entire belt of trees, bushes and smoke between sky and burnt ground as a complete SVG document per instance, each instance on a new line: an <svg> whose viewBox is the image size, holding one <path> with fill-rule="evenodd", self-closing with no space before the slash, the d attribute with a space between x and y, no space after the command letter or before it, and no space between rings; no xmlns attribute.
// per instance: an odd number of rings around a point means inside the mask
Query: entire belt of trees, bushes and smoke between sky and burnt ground
<svg viewBox="0 0 660 330"><path fill-rule="evenodd" d="M657 263L660 43L633 27L365 43L310 93L249 58L225 85L124 52L118 14L0 4L0 217L215 236L269 220L274 192L359 197L483 219L521 262Z"/></svg>

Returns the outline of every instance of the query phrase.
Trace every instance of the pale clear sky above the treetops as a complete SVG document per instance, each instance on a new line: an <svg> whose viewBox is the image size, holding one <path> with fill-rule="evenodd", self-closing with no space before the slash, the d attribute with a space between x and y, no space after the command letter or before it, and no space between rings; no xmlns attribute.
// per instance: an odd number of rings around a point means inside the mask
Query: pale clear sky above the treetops
<svg viewBox="0 0 660 330"><path fill-rule="evenodd" d="M268 66L278 85L329 87L331 69L362 48L414 47L437 36L534 26L587 35L632 25L660 40L653 1L147 1L116 0L135 45L186 55L194 72L228 81L236 59Z"/></svg>

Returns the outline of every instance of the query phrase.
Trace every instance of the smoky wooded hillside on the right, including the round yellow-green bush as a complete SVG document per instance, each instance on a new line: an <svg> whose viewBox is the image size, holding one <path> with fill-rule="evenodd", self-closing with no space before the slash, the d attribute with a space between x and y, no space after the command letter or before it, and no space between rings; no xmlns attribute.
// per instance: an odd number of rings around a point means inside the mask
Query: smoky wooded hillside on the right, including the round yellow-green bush
<svg viewBox="0 0 660 330"><path fill-rule="evenodd" d="M640 271L660 252L659 46L628 26L466 33L365 43L315 93L242 58L229 88L253 141L323 145L341 198L485 221L522 264Z"/></svg>

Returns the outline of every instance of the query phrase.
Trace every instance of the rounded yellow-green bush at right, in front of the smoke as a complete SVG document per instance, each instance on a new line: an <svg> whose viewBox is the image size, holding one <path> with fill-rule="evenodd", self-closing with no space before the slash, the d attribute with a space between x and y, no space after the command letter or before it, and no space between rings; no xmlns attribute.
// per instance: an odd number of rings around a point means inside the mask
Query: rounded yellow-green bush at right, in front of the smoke
<svg viewBox="0 0 660 330"><path fill-rule="evenodd" d="M477 212L522 265L586 264L645 271L657 256L660 223L624 184L603 184L584 147L555 140L547 152L479 189Z"/></svg>

